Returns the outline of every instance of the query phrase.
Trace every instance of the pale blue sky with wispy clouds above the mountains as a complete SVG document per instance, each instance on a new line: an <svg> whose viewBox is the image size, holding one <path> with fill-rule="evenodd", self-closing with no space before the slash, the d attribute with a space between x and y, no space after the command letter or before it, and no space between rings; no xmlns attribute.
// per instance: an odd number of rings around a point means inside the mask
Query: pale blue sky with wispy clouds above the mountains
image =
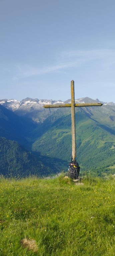
<svg viewBox="0 0 115 256"><path fill-rule="evenodd" d="M1 0L0 98L115 102L114 0Z"/></svg>

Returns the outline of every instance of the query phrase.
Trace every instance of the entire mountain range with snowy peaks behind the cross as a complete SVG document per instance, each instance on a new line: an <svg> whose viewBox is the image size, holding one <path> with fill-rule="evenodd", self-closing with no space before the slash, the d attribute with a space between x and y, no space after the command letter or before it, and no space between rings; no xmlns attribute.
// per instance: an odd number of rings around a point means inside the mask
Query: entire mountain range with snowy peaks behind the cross
<svg viewBox="0 0 115 256"><path fill-rule="evenodd" d="M2 137L0 172L2 174L10 174L11 169L14 176L24 176L24 173L48 175L68 168L71 160L71 109L44 109L43 106L70 102L71 100L64 102L37 98L26 98L20 102L13 99L0 100L0 137ZM102 101L85 97L75 102ZM102 103L101 107L75 108L77 160L82 173L91 171L95 175L102 175L115 171L115 103ZM3 142L4 145L10 145L8 155L7 147L3 147ZM13 161L10 151L13 152ZM22 161L25 153L20 158L18 151L26 152L28 160ZM3 155L7 157L3 158ZM13 166L9 165L8 156ZM27 165L21 165L21 171L16 166L17 158L18 166L21 161L27 162ZM34 169L32 169L33 162L35 162Z"/></svg>

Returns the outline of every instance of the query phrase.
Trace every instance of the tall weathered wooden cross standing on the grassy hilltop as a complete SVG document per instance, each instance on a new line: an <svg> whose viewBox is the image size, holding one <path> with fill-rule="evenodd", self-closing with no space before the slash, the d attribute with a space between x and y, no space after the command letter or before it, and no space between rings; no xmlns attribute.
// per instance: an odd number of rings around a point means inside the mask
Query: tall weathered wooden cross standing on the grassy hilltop
<svg viewBox="0 0 115 256"><path fill-rule="evenodd" d="M71 81L71 104L54 104L44 105L44 108L65 108L71 107L71 123L72 123L72 158L76 159L76 134L75 134L75 107L91 107L102 106L102 103L78 103L75 104L74 81Z"/></svg>

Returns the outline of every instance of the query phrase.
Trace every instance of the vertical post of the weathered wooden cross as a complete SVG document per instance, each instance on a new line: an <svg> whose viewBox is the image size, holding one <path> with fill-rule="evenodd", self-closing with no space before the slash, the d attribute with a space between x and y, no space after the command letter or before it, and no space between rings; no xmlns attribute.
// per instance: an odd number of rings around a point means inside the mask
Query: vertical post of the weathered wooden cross
<svg viewBox="0 0 115 256"><path fill-rule="evenodd" d="M71 124L72 124L72 157L76 158L76 133L75 133L75 96L74 81L71 81Z"/></svg>

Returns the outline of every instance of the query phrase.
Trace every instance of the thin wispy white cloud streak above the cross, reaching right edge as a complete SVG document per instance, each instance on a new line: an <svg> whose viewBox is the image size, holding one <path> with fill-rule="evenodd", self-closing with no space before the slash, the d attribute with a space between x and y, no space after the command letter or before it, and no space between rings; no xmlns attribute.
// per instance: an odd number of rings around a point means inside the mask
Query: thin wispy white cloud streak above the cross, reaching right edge
<svg viewBox="0 0 115 256"><path fill-rule="evenodd" d="M84 63L90 62L92 60L104 61L104 65L114 65L115 64L115 50L109 49L96 49L96 50L79 50L79 51L66 51L60 55L60 63L36 68L36 67L18 67L19 74L14 76L18 78L27 78L30 76L39 76L42 74L53 73L55 71L62 71L70 67L80 67ZM15 79L13 79L15 80Z"/></svg>

